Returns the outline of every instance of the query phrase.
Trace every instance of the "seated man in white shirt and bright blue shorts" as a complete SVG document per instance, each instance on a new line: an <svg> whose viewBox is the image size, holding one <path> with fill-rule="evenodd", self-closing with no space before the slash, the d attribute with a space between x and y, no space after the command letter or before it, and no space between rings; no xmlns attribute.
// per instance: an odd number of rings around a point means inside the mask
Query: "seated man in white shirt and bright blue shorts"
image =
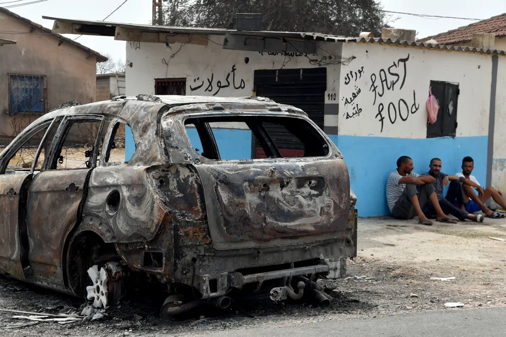
<svg viewBox="0 0 506 337"><path fill-rule="evenodd" d="M462 172L455 174L461 182L463 198L460 198L459 189L456 186L448 189L448 195L446 198L451 202L456 201L456 204L468 213L483 211L483 213L485 213L485 215L489 218L503 218L503 214L500 214L499 212L492 212L487 206L485 206L485 202L488 198L492 197L497 204L506 210L506 202L502 199L502 193L492 186L483 190L476 177L471 175L473 169L473 158L464 157L464 159L462 159ZM476 195L473 187L478 191L478 195Z"/></svg>

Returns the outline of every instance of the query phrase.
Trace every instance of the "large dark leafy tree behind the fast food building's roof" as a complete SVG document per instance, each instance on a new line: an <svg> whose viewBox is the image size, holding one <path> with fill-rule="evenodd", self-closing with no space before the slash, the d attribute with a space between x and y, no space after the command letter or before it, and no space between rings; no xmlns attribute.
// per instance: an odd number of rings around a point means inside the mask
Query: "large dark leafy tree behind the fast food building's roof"
<svg viewBox="0 0 506 337"><path fill-rule="evenodd" d="M261 13L262 30L381 36L385 12L375 0L165 0L169 26L235 29L236 13Z"/></svg>

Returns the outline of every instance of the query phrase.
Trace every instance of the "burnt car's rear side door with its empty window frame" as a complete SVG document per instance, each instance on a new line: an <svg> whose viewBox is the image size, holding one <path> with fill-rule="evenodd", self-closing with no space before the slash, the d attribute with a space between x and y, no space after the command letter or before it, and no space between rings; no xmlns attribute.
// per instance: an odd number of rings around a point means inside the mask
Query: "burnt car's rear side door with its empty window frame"
<svg viewBox="0 0 506 337"><path fill-rule="evenodd" d="M80 122L100 123L93 143L91 165L83 168L57 168L56 161L69 130L72 125ZM98 114L64 116L40 172L32 178L26 212L30 243L28 259L34 281L38 283L60 289L67 287L64 270L65 242L72 229L80 221L82 205L86 201L88 181L91 172L97 166L105 122L105 116ZM73 182L65 186L68 181ZM56 199L47 198L48 195L60 197L58 207L55 207ZM44 211L48 209L53 222L48 222L48 219L43 217Z"/></svg>

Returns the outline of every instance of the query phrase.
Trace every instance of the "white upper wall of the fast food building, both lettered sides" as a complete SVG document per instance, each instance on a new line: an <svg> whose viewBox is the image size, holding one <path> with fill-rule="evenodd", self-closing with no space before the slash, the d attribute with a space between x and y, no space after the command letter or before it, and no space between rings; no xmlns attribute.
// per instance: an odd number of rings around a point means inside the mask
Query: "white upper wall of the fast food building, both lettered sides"
<svg viewBox="0 0 506 337"><path fill-rule="evenodd" d="M339 116L325 116L325 126L338 125L340 135L426 138L426 100L431 80L459 84L457 137L488 134L489 55L379 43L321 42L320 56L285 57L224 50L223 38L209 36L207 46L127 43L126 64L132 67L126 67L126 94L154 94L155 78L186 78L187 95L248 96L254 87L255 70L317 67L309 59L328 57L329 54L323 52L326 51L334 56L355 57L349 65L327 66L325 103L339 103L340 113ZM352 76L347 78L350 72ZM358 78L355 79L355 75ZM371 76L376 78L376 93L371 86ZM382 85L383 77L386 81ZM219 88L219 85L226 87ZM353 102L347 103L347 100ZM383 106L383 131L381 116L377 116L380 106ZM357 108L360 114L354 115Z"/></svg>

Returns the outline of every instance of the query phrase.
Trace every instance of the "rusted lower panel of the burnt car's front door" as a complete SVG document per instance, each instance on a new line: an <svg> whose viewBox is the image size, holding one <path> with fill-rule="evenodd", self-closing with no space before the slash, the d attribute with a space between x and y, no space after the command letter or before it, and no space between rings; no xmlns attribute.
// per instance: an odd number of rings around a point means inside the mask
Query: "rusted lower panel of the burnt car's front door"
<svg viewBox="0 0 506 337"><path fill-rule="evenodd" d="M24 278L21 265L21 242L18 227L19 208L24 182L31 174L0 175L0 269ZM23 218L20 219L23 221Z"/></svg>

